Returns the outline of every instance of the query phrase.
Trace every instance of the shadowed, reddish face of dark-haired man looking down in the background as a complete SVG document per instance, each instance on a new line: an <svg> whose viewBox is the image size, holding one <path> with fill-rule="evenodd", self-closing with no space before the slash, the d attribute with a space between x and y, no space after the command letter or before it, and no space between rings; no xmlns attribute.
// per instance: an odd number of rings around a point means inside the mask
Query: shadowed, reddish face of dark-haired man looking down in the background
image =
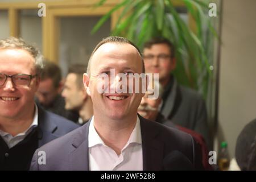
<svg viewBox="0 0 256 182"><path fill-rule="evenodd" d="M52 78L46 78L45 80L40 81L38 91L36 92L36 97L38 98L40 104L43 106L49 106L55 100L58 93L59 88L55 88Z"/></svg>

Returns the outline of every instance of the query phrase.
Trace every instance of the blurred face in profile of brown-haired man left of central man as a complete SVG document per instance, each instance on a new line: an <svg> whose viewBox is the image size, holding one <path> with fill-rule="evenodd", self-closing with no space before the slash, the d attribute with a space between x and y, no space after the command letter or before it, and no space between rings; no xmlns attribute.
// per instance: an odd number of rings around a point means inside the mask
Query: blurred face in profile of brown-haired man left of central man
<svg viewBox="0 0 256 182"><path fill-rule="evenodd" d="M77 86L77 75L75 73L67 75L61 95L65 98L65 109L80 110L86 95L84 88Z"/></svg>

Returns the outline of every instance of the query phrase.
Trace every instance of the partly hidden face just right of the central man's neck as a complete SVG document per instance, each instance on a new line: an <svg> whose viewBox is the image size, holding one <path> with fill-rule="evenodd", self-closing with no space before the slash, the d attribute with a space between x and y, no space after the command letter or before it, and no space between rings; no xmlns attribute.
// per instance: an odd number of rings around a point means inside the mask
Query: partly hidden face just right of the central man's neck
<svg viewBox="0 0 256 182"><path fill-rule="evenodd" d="M158 115L158 107L160 103L160 97L155 100L150 100L148 98L148 93L146 93L141 100L141 104L138 107L138 113L146 119L155 121L156 116Z"/></svg>

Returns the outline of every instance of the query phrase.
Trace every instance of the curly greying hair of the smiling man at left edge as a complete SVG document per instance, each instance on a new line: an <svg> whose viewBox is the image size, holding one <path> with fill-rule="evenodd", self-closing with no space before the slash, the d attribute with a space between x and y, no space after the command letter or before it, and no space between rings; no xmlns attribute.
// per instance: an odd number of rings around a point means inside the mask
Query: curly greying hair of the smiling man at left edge
<svg viewBox="0 0 256 182"><path fill-rule="evenodd" d="M35 59L35 68L36 73L40 76L42 69L44 68L43 64L43 55L40 53L39 49L27 44L22 38L10 37L7 39L0 40L0 49L24 49L29 52L32 57Z"/></svg>

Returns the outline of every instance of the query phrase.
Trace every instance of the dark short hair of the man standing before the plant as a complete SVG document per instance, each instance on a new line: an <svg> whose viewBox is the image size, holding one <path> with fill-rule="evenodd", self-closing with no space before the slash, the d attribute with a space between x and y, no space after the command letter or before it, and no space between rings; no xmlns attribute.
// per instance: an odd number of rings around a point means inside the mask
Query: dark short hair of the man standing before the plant
<svg viewBox="0 0 256 182"><path fill-rule="evenodd" d="M162 37L152 38L151 40L144 43L144 48L149 48L150 49L155 44L166 44L170 48L171 58L175 57L174 44L166 38L162 38Z"/></svg>

